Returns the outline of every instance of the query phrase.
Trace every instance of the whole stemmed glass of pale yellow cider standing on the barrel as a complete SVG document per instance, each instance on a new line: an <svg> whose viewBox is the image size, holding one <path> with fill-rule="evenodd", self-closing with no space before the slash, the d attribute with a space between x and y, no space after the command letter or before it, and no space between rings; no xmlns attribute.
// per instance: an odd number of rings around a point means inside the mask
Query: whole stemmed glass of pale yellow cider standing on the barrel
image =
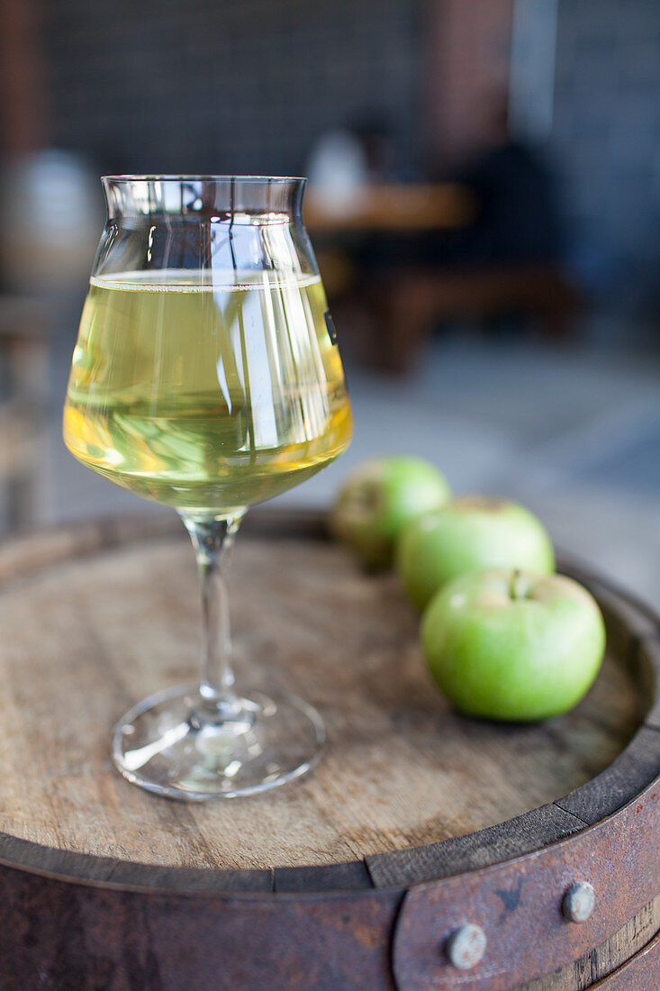
<svg viewBox="0 0 660 991"><path fill-rule="evenodd" d="M351 409L302 225L305 180L110 175L73 353L64 441L82 464L173 506L201 581L203 676L115 727L129 781L171 798L233 798L296 778L324 743L295 696L240 693L228 554L246 509L348 446Z"/></svg>

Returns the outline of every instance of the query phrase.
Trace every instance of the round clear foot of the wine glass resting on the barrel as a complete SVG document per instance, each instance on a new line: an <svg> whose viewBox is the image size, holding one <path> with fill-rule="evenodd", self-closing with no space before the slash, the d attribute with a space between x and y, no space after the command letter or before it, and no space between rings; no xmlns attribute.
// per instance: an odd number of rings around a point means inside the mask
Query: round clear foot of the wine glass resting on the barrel
<svg viewBox="0 0 660 991"><path fill-rule="evenodd" d="M292 695L250 692L221 715L197 686L160 692L115 726L113 757L129 781L173 799L255 795L299 778L325 743L321 716Z"/></svg>

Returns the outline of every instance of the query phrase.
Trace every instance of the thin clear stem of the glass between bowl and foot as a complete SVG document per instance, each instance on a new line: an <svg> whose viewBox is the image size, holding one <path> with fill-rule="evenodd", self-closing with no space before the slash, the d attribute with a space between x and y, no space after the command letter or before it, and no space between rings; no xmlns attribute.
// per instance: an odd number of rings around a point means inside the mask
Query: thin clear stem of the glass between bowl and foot
<svg viewBox="0 0 660 991"><path fill-rule="evenodd" d="M232 716L238 702L231 664L227 571L234 537L244 509L227 516L188 516L181 513L197 557L202 599L202 680L199 694L207 715Z"/></svg>

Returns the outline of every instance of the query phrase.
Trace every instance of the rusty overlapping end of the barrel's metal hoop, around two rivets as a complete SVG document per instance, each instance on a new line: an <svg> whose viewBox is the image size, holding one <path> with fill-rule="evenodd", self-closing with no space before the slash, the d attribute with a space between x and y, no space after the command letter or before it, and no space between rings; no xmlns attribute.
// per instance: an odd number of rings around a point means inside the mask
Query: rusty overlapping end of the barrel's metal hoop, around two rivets
<svg viewBox="0 0 660 991"><path fill-rule="evenodd" d="M657 893L659 833L656 778L627 806L559 843L410 888L392 941L396 986L399 991L508 991L577 960ZM572 885L585 881L596 902L575 925L563 906ZM487 945L474 966L458 969L446 946L465 926L481 928Z"/></svg>

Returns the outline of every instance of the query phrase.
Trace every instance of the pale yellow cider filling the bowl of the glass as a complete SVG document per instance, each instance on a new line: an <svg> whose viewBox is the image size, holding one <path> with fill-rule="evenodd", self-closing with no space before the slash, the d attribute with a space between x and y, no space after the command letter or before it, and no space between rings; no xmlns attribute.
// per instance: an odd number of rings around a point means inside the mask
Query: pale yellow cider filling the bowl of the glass
<svg viewBox="0 0 660 991"><path fill-rule="evenodd" d="M318 276L182 271L91 279L64 441L138 495L252 505L348 446L351 410Z"/></svg>

